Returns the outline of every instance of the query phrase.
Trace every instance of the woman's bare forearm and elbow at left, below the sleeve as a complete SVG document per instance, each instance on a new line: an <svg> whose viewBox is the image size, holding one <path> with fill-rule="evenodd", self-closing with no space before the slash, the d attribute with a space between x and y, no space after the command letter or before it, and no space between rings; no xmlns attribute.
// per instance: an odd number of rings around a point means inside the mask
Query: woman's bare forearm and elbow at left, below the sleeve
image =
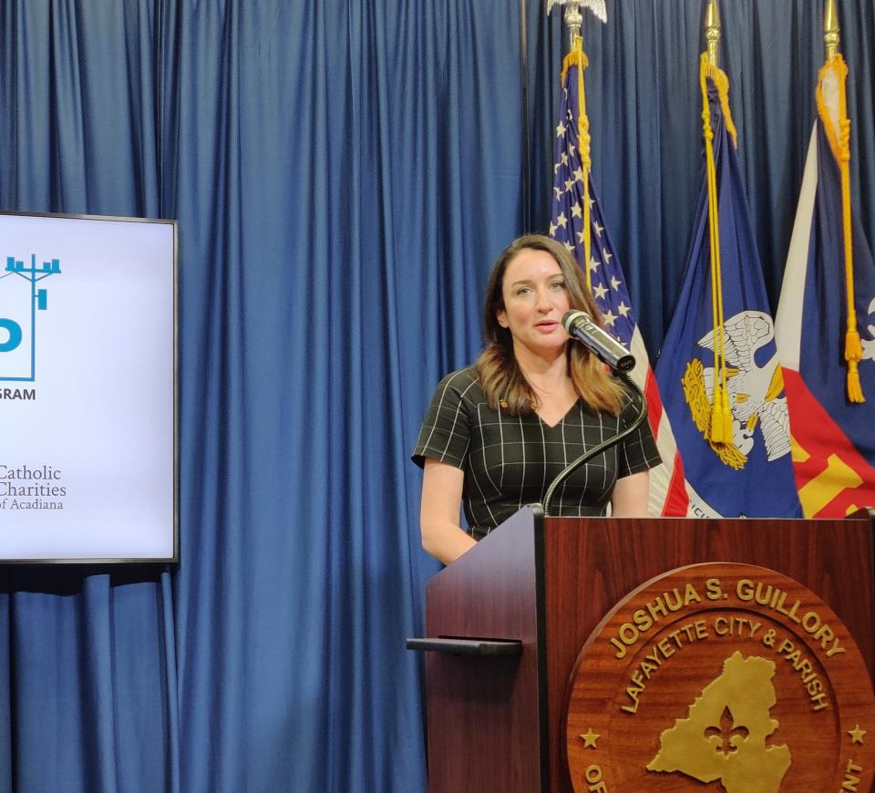
<svg viewBox="0 0 875 793"><path fill-rule="evenodd" d="M444 564L455 561L477 544L458 525L465 472L447 463L427 458L422 473L419 528L422 547Z"/></svg>

